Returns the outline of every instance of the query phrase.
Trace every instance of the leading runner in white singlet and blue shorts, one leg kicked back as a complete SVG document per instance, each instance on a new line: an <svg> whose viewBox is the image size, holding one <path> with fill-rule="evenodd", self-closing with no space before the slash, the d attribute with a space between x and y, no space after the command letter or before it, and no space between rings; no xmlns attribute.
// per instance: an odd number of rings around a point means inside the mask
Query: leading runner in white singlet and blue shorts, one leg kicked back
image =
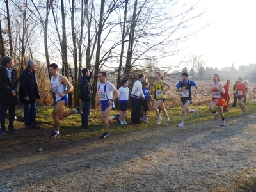
<svg viewBox="0 0 256 192"><path fill-rule="evenodd" d="M65 111L65 106L68 104L68 93L73 90L72 84L68 81L67 77L62 76L58 72L58 65L52 63L49 65L49 74L51 77L51 90L45 94L45 99L50 93L55 93L55 106L52 112L52 118L54 120L55 131L51 134L50 138L56 138L60 136L60 120L71 115L73 113L82 113L81 109L77 107L74 110Z"/></svg>

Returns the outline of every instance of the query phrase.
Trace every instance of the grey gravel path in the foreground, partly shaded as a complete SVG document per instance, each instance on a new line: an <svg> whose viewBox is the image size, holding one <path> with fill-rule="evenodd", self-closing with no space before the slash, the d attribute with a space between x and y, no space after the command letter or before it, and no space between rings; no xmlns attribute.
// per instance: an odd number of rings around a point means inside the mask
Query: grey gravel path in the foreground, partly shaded
<svg viewBox="0 0 256 192"><path fill-rule="evenodd" d="M225 127L216 120L2 148L0 191L232 191L235 178L255 174L255 122L250 114Z"/></svg>

